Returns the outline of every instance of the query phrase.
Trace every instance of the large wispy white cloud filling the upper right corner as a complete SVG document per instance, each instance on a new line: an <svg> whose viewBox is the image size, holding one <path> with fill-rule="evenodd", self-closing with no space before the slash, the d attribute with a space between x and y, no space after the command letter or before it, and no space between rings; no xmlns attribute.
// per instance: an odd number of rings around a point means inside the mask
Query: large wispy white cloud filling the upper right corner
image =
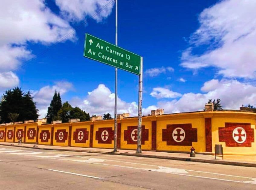
<svg viewBox="0 0 256 190"><path fill-rule="evenodd" d="M204 9L200 27L191 35L182 53L183 67L214 66L225 77L254 78L256 71L256 1L224 0ZM208 46L203 54L193 48Z"/></svg>

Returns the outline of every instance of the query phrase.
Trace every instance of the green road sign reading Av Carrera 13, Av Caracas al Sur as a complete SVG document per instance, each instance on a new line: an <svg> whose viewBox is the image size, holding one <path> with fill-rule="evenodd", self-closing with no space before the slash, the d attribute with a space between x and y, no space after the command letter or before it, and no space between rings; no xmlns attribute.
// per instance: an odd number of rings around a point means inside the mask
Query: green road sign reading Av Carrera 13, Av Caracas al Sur
<svg viewBox="0 0 256 190"><path fill-rule="evenodd" d="M90 34L85 35L84 57L140 74L140 56Z"/></svg>

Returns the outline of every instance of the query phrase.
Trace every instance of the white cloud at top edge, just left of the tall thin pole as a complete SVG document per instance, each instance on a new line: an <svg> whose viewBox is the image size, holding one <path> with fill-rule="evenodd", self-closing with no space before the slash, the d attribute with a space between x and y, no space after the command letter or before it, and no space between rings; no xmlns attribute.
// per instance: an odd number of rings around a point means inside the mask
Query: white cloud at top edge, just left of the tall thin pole
<svg viewBox="0 0 256 190"><path fill-rule="evenodd" d="M55 0L55 2L65 18L71 21L84 20L86 16L93 16L102 9L94 16L94 19L100 22L110 15L114 5L112 0ZM109 5L103 9L107 4Z"/></svg>

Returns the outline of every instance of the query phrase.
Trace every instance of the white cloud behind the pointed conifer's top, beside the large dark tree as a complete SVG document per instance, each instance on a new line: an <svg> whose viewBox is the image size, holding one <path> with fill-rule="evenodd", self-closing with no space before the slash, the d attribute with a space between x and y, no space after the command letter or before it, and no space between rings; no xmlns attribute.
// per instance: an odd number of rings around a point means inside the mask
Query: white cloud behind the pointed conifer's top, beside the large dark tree
<svg viewBox="0 0 256 190"><path fill-rule="evenodd" d="M62 96L68 91L73 90L73 85L69 82L56 82L53 86L47 85L39 90L31 90L34 101L37 102L36 106L37 109L39 109L40 118L44 118L46 116L48 106L51 103L55 90L60 93L60 96Z"/></svg>

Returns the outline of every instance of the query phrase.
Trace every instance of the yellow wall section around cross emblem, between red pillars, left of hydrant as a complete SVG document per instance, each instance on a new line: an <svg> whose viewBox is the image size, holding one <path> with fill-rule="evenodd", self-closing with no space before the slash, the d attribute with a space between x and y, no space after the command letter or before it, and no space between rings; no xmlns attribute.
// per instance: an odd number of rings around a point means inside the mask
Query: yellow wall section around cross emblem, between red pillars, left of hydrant
<svg viewBox="0 0 256 190"><path fill-rule="evenodd" d="M197 128L197 142L192 142L192 146L197 152L205 152L205 119L202 113L157 116L157 150L188 152L191 146L167 145L162 141L162 129L166 129L167 124L192 124L192 128Z"/></svg>

